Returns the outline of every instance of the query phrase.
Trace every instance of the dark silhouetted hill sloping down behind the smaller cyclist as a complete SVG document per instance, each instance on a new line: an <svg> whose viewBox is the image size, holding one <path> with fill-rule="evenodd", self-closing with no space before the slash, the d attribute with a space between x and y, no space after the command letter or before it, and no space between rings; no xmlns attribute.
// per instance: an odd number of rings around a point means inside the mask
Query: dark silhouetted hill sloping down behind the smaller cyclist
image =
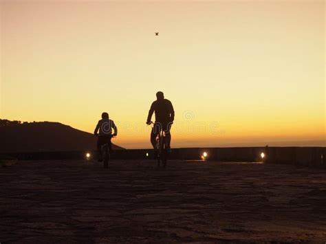
<svg viewBox="0 0 326 244"><path fill-rule="evenodd" d="M0 126L0 153L96 150L96 140L91 133L57 122L19 122ZM113 149L123 148L113 144Z"/></svg>

